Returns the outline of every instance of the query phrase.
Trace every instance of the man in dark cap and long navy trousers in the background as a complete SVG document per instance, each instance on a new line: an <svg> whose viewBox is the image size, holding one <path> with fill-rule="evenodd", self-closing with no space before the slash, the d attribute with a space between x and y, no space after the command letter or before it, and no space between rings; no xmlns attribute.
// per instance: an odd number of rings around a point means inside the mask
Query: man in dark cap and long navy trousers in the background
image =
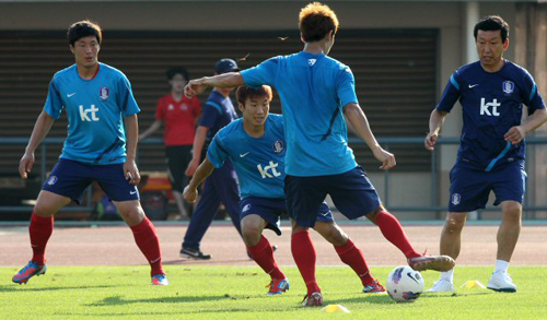
<svg viewBox="0 0 547 320"><path fill-rule="evenodd" d="M238 70L237 63L232 59L221 59L214 64L214 73L223 74ZM193 176L201 162L201 152L211 142L217 132L228 123L237 118L234 106L230 99L233 87L216 87L209 99L203 104L203 114L194 139L191 162L186 169L187 176ZM179 256L197 260L209 260L210 254L200 250L201 239L217 214L220 203L223 203L232 223L241 235L240 227L240 194L237 188L237 176L232 163L226 161L224 165L216 169L203 185L201 199L191 215L188 229L184 236Z"/></svg>

